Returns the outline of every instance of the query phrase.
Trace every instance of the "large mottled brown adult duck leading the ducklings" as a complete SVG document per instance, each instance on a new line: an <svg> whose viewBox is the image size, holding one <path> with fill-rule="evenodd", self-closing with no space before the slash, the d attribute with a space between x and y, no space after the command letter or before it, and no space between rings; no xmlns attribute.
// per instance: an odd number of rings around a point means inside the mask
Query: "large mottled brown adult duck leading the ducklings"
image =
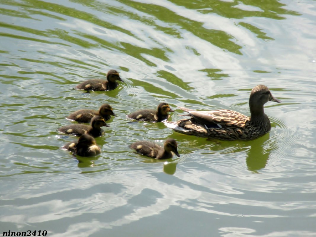
<svg viewBox="0 0 316 237"><path fill-rule="evenodd" d="M268 87L258 85L250 94L250 117L232 110L196 111L180 107L188 112L191 118L176 122L166 121L165 124L176 132L198 137L222 140L255 139L271 129L270 120L263 109L263 105L268 101L281 102L272 96Z"/></svg>

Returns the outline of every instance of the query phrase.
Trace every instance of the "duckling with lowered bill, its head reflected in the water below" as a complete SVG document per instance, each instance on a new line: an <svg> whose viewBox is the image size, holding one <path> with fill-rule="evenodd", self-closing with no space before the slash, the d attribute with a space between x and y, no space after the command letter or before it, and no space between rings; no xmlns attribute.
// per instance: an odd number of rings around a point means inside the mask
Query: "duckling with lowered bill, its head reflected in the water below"
<svg viewBox="0 0 316 237"><path fill-rule="evenodd" d="M169 159L172 157L172 152L180 157L178 152L177 142L169 138L163 144L163 147L149 141L137 141L130 145L130 148L135 149L137 153L148 156L157 160Z"/></svg>

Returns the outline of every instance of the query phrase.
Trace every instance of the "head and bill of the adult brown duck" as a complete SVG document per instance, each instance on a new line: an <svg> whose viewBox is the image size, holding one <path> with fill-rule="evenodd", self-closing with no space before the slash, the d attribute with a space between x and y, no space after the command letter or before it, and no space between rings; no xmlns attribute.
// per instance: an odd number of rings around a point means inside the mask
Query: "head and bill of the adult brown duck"
<svg viewBox="0 0 316 237"><path fill-rule="evenodd" d="M263 106L268 101L281 102L281 100L273 97L269 88L264 85L258 85L252 89L249 98L249 105L251 108L258 105Z"/></svg>

